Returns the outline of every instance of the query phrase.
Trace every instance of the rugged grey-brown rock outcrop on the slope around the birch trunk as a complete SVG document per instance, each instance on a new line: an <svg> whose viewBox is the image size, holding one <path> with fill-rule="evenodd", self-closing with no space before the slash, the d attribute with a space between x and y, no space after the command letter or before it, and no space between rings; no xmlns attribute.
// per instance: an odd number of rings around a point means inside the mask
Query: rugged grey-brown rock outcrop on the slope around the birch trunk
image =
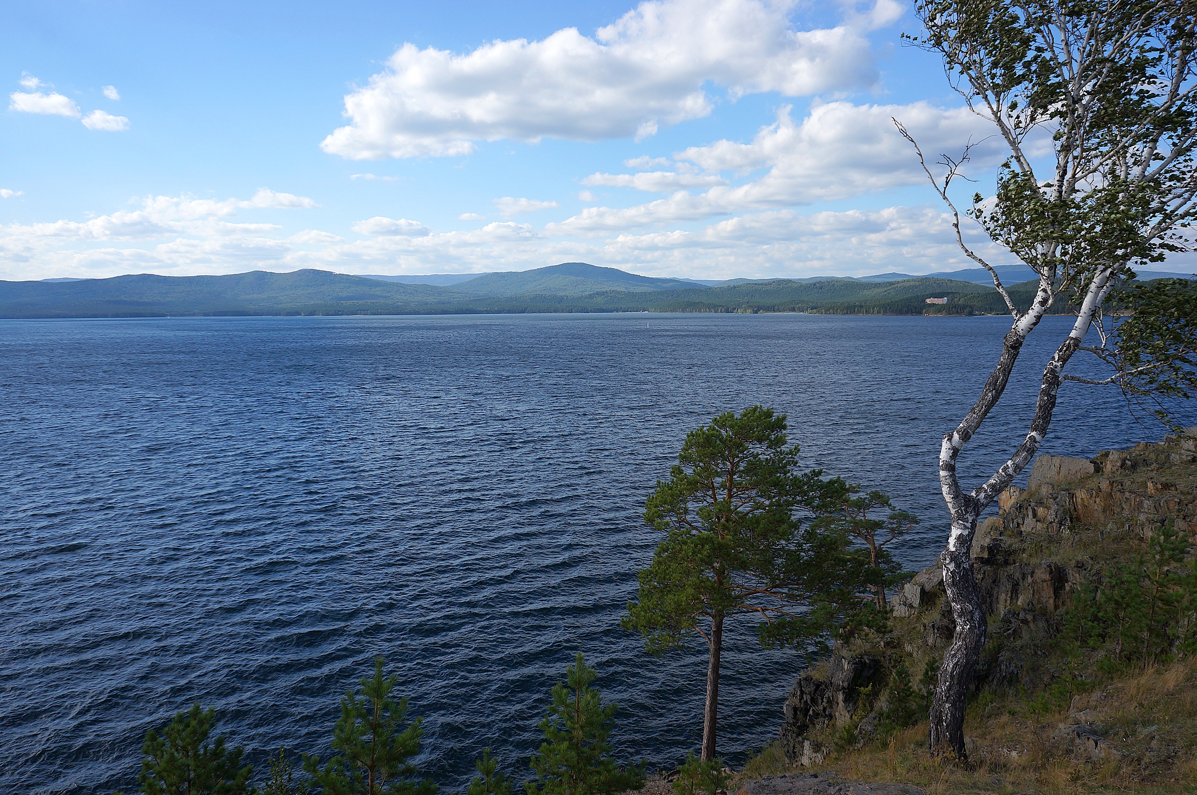
<svg viewBox="0 0 1197 795"><path fill-rule="evenodd" d="M1092 460L1041 455L1032 466L1028 487L1010 487L998 498L998 515L978 527L973 544L990 637L997 641L978 666L978 688L1014 684L1033 688L1053 675L1037 668L1035 644L1059 631L1058 613L1082 583L1100 574L1100 562L1084 544L1062 552L1069 536L1083 532L1146 538L1165 521L1197 533L1195 463L1197 427L1169 435L1160 444L1107 450ZM1035 558L1037 551L1051 545L1059 554ZM935 657L952 642L955 623L943 599L938 564L903 585L892 609L897 619L905 619L909 655ZM877 657L845 649L804 672L785 702L780 740L786 758L792 764L820 764L828 747L812 735L826 738L827 729L855 726L857 736L868 739L885 705L868 704L871 711L862 715L862 694L880 692L886 685L880 680L887 676ZM1062 724L1058 734L1078 753L1092 758L1108 753L1101 730L1083 721Z"/></svg>

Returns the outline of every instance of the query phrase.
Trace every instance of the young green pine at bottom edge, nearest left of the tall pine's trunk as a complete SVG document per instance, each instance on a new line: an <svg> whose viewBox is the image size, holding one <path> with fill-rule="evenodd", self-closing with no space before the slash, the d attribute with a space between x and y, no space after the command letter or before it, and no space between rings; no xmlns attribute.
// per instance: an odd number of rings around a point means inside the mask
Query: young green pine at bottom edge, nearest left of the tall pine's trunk
<svg viewBox="0 0 1197 795"><path fill-rule="evenodd" d="M616 705L602 703L591 687L595 670L582 653L553 686L553 703L540 722L545 742L531 757L536 778L528 795L606 795L644 787L644 765L620 767L610 758L612 718Z"/></svg>

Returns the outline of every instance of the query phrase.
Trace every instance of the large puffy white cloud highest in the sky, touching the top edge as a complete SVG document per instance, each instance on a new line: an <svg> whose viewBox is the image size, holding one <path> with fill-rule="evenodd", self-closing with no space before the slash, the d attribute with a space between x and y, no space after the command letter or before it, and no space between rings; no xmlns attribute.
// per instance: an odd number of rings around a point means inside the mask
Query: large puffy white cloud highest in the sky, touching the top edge
<svg viewBox="0 0 1197 795"><path fill-rule="evenodd" d="M880 5L893 0L879 0ZM795 30L796 0L652 0L584 36L494 41L466 54L403 44L345 97L350 123L321 147L352 159L468 154L475 141L644 138L731 98L867 87L868 24ZM892 14L881 13L881 18Z"/></svg>

